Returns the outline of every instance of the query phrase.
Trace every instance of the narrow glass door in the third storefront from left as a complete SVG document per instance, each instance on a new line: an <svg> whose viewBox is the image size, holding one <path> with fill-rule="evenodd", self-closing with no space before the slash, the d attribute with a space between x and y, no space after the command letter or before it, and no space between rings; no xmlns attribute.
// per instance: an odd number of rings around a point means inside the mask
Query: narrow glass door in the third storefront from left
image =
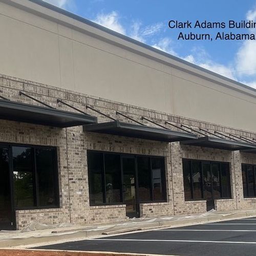
<svg viewBox="0 0 256 256"><path fill-rule="evenodd" d="M206 200L206 210L214 209L214 197L212 195L212 172L210 163L202 163L203 170L203 198Z"/></svg>

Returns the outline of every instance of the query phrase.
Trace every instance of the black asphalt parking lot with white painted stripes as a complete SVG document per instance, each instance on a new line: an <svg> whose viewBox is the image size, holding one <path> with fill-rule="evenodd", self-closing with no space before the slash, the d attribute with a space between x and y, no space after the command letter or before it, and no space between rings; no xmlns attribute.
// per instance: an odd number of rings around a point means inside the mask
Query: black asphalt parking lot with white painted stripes
<svg viewBox="0 0 256 256"><path fill-rule="evenodd" d="M256 218L127 233L37 248L161 255L255 255Z"/></svg>

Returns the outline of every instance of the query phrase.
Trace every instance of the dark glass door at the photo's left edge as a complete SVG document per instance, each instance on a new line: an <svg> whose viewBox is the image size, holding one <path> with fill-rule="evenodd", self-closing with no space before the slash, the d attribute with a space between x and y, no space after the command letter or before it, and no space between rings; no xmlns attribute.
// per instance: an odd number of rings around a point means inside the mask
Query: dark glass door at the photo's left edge
<svg viewBox="0 0 256 256"><path fill-rule="evenodd" d="M9 168L9 148L0 147L0 229L14 229Z"/></svg>

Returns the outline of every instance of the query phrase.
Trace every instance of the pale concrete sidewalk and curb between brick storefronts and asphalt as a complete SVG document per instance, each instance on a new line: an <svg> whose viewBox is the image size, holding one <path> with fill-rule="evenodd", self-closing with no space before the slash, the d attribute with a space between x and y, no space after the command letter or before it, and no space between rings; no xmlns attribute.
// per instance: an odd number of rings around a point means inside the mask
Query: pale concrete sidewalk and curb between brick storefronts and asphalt
<svg viewBox="0 0 256 256"><path fill-rule="evenodd" d="M30 238L12 238L8 240L0 241L0 248L14 247L14 246L24 246L24 245L32 245L32 244L40 244L40 243L58 243L58 241L62 240L82 240L93 236L101 236L103 235L111 235L118 234L123 232L132 232L139 230L151 230L157 228L167 228L167 227L180 227L180 226L189 226L196 224L203 224L208 222L218 222L218 221L227 221L227 220L235 220L235 219L243 219L246 217L256 217L256 212L237 212L234 214L220 214L214 216L204 216L198 218L187 218L187 219L178 219L178 220L169 220L169 221L157 221L157 222L142 222L132 225L116 226L112 227L109 230L69 230L67 232L61 231L57 233L52 233L49 236L42 237L30 237Z"/></svg>

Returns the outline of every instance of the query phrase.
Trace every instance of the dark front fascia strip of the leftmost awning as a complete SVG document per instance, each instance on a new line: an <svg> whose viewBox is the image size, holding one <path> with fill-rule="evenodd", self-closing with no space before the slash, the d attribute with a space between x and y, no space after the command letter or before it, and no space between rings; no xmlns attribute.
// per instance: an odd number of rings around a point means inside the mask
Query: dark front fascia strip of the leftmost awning
<svg viewBox="0 0 256 256"><path fill-rule="evenodd" d="M63 118L74 118L75 121L96 123L97 117L91 115L83 115L69 111L50 109L44 106L31 105L21 102L14 102L10 100L0 100L0 108L8 108L12 110L21 110L30 113L45 114Z"/></svg>

